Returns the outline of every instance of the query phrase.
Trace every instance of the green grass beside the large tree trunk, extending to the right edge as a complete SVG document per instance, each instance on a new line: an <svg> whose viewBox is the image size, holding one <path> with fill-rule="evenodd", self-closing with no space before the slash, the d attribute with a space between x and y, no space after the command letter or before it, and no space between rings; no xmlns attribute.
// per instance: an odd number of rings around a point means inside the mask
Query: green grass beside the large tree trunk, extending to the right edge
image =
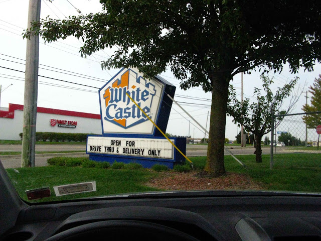
<svg viewBox="0 0 321 241"><path fill-rule="evenodd" d="M225 156L227 172L245 173L262 183L266 190L321 192L320 154L277 154L274 155L273 170L270 170L270 156L262 155L262 163L255 162L254 155L239 155L242 167L231 156ZM191 157L194 168L201 170L206 157Z"/></svg>

